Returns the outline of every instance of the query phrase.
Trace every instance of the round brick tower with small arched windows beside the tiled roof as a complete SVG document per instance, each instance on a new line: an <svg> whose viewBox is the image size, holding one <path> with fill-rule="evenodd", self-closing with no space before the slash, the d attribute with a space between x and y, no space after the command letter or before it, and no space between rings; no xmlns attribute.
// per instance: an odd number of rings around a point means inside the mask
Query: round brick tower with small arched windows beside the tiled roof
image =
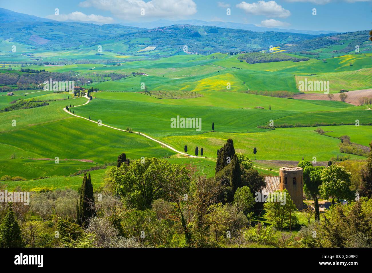
<svg viewBox="0 0 372 273"><path fill-rule="evenodd" d="M279 189L287 189L298 210L303 209L304 170L300 167L282 167L279 174Z"/></svg>

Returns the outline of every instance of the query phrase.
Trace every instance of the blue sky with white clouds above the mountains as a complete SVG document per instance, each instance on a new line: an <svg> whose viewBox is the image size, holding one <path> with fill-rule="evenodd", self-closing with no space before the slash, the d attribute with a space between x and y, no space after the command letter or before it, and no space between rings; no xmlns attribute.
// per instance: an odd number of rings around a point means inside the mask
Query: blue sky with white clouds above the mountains
<svg viewBox="0 0 372 273"><path fill-rule="evenodd" d="M372 28L372 0L2 0L0 7L58 21L197 19L298 30Z"/></svg>

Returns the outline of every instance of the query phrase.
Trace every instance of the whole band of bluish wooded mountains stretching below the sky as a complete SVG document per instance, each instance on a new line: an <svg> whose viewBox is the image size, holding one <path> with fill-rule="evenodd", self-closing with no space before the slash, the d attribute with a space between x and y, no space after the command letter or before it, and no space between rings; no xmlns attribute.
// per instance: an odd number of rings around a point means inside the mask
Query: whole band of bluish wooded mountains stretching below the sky
<svg viewBox="0 0 372 273"><path fill-rule="evenodd" d="M251 52L267 50L270 46L280 46L281 50L287 52L300 52L344 43L333 37L336 33L324 32L328 35L322 31L309 34L300 30L201 20L158 20L125 26L58 22L0 8L0 40L47 50L96 50L97 45L102 45L106 51L118 54L161 57L191 53ZM350 33L349 36L359 39L360 44L368 39L367 34L363 31ZM352 49L347 47L347 50Z"/></svg>

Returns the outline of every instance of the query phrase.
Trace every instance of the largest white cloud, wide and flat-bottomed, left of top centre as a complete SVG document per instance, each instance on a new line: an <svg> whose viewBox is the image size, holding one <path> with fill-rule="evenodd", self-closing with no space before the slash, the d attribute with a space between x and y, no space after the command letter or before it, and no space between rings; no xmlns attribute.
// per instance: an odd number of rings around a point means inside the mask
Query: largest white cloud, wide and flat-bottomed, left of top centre
<svg viewBox="0 0 372 273"><path fill-rule="evenodd" d="M86 0L80 7L95 7L96 9L110 11L120 19L148 19L154 17L178 18L196 13L196 4L193 0ZM144 15L141 15L144 9Z"/></svg>

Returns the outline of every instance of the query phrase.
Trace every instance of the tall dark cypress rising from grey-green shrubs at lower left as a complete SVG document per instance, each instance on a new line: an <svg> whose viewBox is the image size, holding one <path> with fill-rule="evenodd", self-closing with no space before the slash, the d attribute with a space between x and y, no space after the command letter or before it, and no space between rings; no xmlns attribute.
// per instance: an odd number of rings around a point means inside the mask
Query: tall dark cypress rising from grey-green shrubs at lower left
<svg viewBox="0 0 372 273"><path fill-rule="evenodd" d="M83 184L81 184L79 205L77 211L77 221L81 227L87 225L89 218L96 215L96 205L94 204L93 185L90 174L84 174Z"/></svg>

